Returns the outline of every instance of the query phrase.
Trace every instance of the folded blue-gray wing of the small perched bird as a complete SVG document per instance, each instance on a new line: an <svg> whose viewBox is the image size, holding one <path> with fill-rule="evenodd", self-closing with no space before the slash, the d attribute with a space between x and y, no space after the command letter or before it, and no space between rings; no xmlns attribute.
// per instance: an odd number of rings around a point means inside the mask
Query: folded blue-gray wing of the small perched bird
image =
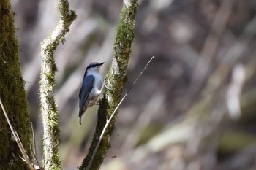
<svg viewBox="0 0 256 170"><path fill-rule="evenodd" d="M83 84L82 84L82 88L80 89L80 93L79 93L79 108L83 109L83 104L86 102L89 93L91 92L91 89L94 87L94 76L89 75L86 77L83 77Z"/></svg>

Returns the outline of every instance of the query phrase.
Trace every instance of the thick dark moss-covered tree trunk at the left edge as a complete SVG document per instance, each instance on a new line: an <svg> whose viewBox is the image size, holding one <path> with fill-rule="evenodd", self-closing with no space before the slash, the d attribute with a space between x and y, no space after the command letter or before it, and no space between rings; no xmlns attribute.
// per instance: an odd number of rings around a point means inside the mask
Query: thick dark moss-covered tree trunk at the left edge
<svg viewBox="0 0 256 170"><path fill-rule="evenodd" d="M13 128L29 152L29 109L18 58L18 40L10 0L0 1L0 98ZM0 109L0 169L29 169L11 139L10 128Z"/></svg>

